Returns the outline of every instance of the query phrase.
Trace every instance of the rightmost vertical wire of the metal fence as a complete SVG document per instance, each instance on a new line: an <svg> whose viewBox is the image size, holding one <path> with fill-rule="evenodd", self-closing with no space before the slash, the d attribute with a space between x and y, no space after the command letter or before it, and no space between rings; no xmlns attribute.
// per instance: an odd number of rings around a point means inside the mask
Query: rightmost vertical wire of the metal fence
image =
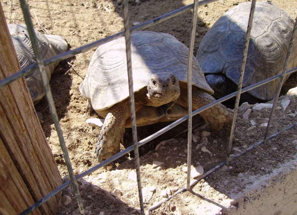
<svg viewBox="0 0 297 215"><path fill-rule="evenodd" d="M280 93L280 90L282 89L283 81L285 79L285 72L287 70L288 62L289 62L289 59L290 59L290 54L291 54L291 51L292 51L292 48L293 48L293 42L294 42L294 39L295 39L296 28L297 28L297 17L295 18L294 29L292 31L290 45L289 45L287 57L286 57L286 60L285 60L285 64L283 65L283 71L282 71L282 76L281 76L280 81L279 81L279 87L277 89L277 92L275 93L272 109L271 109L269 120L268 120L268 123L267 123L266 131L265 131L265 135L264 135L264 139L263 139L264 143L266 143L266 139L267 139L268 132L269 132L269 129L270 129L271 121L272 121L273 114L274 114L274 111L275 111L275 106L276 106L277 101L279 99L279 93Z"/></svg>

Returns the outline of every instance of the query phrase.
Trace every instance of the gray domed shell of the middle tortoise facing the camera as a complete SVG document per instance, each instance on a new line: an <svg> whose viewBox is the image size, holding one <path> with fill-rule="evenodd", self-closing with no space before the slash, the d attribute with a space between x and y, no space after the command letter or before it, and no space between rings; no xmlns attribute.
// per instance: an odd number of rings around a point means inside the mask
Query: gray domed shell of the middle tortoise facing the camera
<svg viewBox="0 0 297 215"><path fill-rule="evenodd" d="M188 48L174 36L150 31L131 34L134 92L147 87L151 74L172 72L187 82ZM129 97L124 37L99 46L79 91L94 110L104 110ZM213 94L193 56L192 85ZM143 95L145 96L145 95Z"/></svg>

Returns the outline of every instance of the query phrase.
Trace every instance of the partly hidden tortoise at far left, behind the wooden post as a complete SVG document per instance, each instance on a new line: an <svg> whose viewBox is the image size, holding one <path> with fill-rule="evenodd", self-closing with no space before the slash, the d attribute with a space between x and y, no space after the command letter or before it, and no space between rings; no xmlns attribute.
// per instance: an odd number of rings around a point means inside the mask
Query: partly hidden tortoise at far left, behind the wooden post
<svg viewBox="0 0 297 215"><path fill-rule="evenodd" d="M8 24L8 29L21 68L24 69L29 65L36 63L36 56L33 51L26 25ZM67 50L68 44L61 36L44 35L39 31L34 31L38 40L38 48L40 50L42 59L50 58ZM58 62L46 66L45 70L49 79L57 64ZM25 80L28 85L32 100L34 104L37 104L45 95L45 90L43 88L43 82L39 70L36 69L32 74L26 76Z"/></svg>

